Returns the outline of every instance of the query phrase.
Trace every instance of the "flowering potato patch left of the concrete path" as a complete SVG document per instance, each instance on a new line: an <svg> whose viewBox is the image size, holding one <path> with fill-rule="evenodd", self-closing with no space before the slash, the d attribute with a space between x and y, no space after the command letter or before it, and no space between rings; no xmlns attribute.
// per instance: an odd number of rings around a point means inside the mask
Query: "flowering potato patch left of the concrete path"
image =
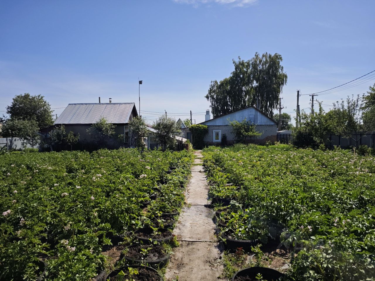
<svg viewBox="0 0 375 281"><path fill-rule="evenodd" d="M145 268L127 265L169 256L192 157L137 149L0 155L0 280L104 280L121 265L123 280L142 280ZM106 253L121 244L130 259L113 263Z"/></svg>

